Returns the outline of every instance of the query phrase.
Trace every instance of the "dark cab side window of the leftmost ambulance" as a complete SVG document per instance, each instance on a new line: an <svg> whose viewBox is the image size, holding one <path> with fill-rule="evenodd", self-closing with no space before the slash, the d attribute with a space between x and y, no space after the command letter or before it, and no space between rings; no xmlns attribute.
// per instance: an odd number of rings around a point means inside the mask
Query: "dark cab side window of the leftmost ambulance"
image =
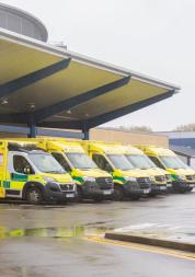
<svg viewBox="0 0 195 277"><path fill-rule="evenodd" d="M34 170L32 169L31 164L22 155L13 155L13 169L15 172L21 174L34 174Z"/></svg>

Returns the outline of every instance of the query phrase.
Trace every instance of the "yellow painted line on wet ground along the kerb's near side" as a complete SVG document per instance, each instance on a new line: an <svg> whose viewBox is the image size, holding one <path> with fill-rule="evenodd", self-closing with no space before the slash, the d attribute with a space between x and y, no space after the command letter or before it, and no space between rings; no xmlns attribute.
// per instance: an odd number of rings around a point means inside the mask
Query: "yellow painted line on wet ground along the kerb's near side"
<svg viewBox="0 0 195 277"><path fill-rule="evenodd" d="M101 236L85 236L84 239L91 242L103 243L107 245L122 246L122 247L131 249L131 250L157 253L157 254L167 255L167 256L173 256L173 257L182 258L182 259L195 261L195 254L190 253L190 252L169 250L169 249L163 249L163 247L158 247L158 246L149 246L149 245L131 243L131 242L107 240Z"/></svg>

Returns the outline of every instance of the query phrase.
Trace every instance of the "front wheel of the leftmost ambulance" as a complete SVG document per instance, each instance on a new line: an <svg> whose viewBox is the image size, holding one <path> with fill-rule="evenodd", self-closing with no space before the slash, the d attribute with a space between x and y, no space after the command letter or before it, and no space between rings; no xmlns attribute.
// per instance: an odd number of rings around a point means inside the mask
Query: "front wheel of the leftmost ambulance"
<svg viewBox="0 0 195 277"><path fill-rule="evenodd" d="M26 183L22 192L22 198L32 204L41 204L45 199L45 188L43 184L38 182Z"/></svg>

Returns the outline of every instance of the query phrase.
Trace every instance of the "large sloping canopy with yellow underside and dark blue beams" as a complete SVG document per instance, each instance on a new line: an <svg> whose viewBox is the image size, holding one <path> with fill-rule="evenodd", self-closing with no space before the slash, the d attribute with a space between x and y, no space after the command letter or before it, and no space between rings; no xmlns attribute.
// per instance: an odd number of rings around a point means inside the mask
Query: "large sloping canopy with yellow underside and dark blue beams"
<svg viewBox="0 0 195 277"><path fill-rule="evenodd" d="M179 86L0 30L0 124L89 130Z"/></svg>

